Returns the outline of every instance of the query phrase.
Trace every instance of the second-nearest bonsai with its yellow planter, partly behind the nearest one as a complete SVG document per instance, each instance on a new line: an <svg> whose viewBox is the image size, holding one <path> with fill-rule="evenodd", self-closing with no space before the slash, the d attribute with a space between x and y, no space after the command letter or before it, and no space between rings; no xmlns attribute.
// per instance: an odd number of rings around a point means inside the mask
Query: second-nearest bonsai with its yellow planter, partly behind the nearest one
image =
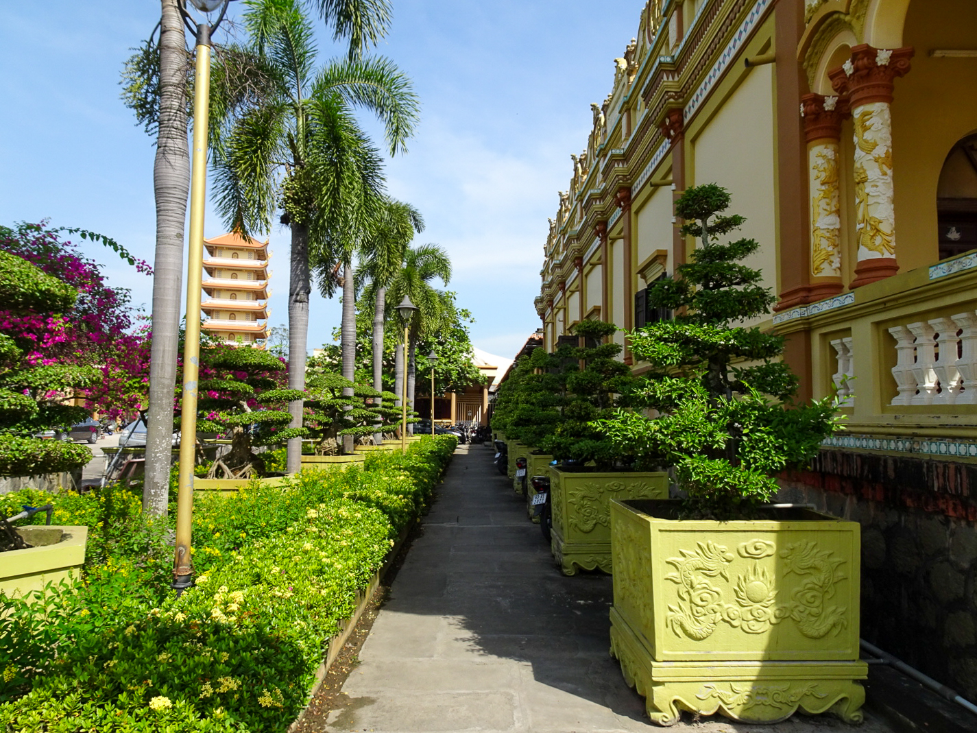
<svg viewBox="0 0 977 733"><path fill-rule="evenodd" d="M613 323L577 323L573 332L583 345L564 344L549 356L549 369L561 375L561 393L552 408L553 429L539 447L558 461L549 469L550 547L566 575L580 569L612 572L612 498L668 496L666 473L655 465L637 466L634 454L598 427L602 417L629 404L636 382L616 358L621 346L604 343L615 331Z"/></svg>

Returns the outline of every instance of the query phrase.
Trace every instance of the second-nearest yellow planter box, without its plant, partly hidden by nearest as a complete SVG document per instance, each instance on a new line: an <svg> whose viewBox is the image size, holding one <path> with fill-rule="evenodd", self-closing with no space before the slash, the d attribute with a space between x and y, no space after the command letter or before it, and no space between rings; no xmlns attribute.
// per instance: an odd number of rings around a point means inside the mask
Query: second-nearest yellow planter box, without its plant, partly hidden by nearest
<svg viewBox="0 0 977 733"><path fill-rule="evenodd" d="M565 575L578 570L612 572L611 499L667 498L660 471L569 471L550 466L553 531L550 548Z"/></svg>

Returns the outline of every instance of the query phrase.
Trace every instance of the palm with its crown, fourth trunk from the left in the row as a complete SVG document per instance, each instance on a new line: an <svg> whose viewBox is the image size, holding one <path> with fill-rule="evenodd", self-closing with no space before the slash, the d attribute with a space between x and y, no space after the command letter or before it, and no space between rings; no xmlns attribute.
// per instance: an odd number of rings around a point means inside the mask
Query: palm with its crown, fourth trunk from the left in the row
<svg viewBox="0 0 977 733"><path fill-rule="evenodd" d="M414 234L424 231L424 219L409 203L388 198L362 243L361 273L369 278L362 300L373 311L373 389L383 391L383 344L386 318L387 286L404 266L404 257ZM345 303L345 301L344 301ZM345 313L344 313L345 316ZM344 321L345 324L345 321ZM345 332L344 332L345 335ZM346 344L343 344L346 358ZM401 394L398 392L397 394ZM376 434L379 444L383 436Z"/></svg>

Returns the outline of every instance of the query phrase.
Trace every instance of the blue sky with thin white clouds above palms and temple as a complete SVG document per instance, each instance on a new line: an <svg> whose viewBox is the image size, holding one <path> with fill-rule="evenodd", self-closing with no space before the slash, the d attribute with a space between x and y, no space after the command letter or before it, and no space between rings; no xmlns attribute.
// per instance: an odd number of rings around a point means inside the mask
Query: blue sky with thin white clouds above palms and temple
<svg viewBox="0 0 977 733"><path fill-rule="evenodd" d="M236 5L236 3L234 4ZM412 78L421 124L388 163L391 194L427 222L418 242L449 252L448 285L472 311L476 346L511 357L540 323L532 307L547 217L583 150L590 103L610 92L614 58L642 0L394 0L377 49ZM234 6L232 6L234 7ZM598 10L598 8L600 10ZM0 12L0 224L51 220L115 237L151 262L151 141L119 101L119 70L159 3L9 3ZM323 57L338 53L324 29ZM364 127L377 132L363 116ZM223 223L206 219L206 235ZM288 232L271 235L270 323L287 322ZM102 247L113 284L149 306L151 283ZM310 349L331 339L339 305L316 296Z"/></svg>

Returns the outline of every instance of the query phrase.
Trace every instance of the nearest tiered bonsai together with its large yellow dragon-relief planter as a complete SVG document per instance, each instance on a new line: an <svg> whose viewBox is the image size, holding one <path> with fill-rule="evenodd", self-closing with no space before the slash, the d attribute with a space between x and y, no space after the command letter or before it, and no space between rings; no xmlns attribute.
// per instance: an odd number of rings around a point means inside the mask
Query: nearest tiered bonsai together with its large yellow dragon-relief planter
<svg viewBox="0 0 977 733"><path fill-rule="evenodd" d="M768 503L774 476L833 432L835 410L830 398L792 404L783 338L735 325L774 298L741 262L755 240L714 240L743 224L721 213L728 204L715 185L676 202L701 246L650 292L679 315L630 336L652 367L632 392L646 412L601 421L639 463L673 465L684 494L613 503L612 654L662 725L683 710L775 722L798 708L857 722L859 525Z"/></svg>

